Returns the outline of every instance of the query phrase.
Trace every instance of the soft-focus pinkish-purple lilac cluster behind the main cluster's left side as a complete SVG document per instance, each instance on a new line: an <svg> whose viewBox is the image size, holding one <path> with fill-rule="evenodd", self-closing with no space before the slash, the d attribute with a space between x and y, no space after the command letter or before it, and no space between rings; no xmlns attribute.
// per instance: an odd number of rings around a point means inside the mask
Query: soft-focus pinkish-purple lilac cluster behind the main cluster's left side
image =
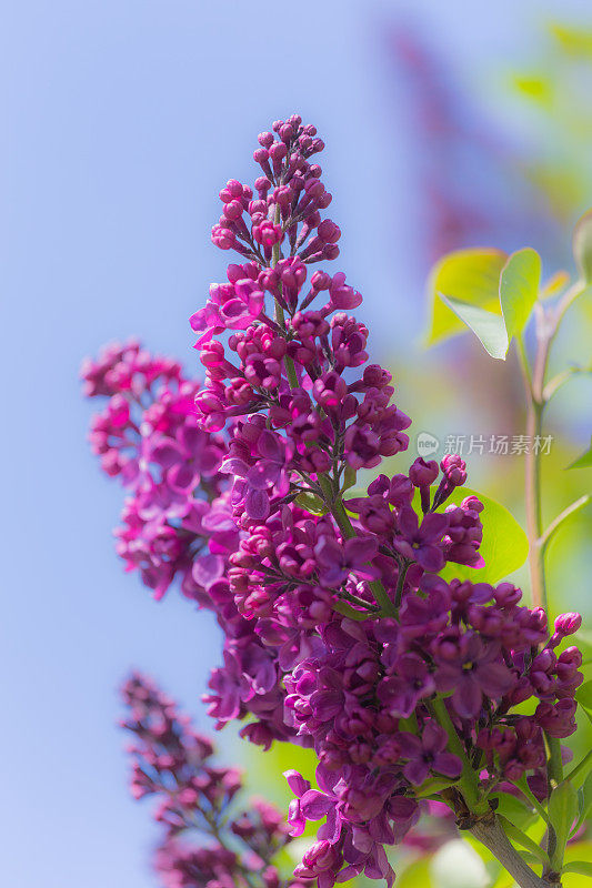
<svg viewBox="0 0 592 888"><path fill-rule="evenodd" d="M183 594L214 610L224 638L224 668L211 679L225 723L247 714L262 719L244 734L269 746L291 730L282 718L281 672L275 650L254 633L230 592L229 557L241 532L231 511L228 478L219 474L227 442L199 427L198 385L179 364L150 355L139 343L110 345L81 370L89 397L107 397L91 423L90 443L103 471L119 476L130 495L117 551L128 571L139 569L157 599L177 579Z"/></svg>

